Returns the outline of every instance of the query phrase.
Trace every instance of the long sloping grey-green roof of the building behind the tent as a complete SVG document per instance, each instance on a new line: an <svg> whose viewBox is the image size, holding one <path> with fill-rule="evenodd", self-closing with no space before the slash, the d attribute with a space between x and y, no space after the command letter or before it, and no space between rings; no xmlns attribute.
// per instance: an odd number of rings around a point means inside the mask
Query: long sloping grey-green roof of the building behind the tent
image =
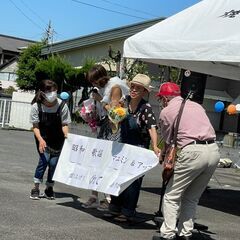
<svg viewBox="0 0 240 240"><path fill-rule="evenodd" d="M82 47L88 47L91 45L100 44L103 42L110 42L113 40L126 39L135 33L138 33L145 28L152 26L159 21L164 20L164 18L156 18L137 24L127 25L119 28L110 29L103 32L98 32L95 34L90 34L62 42L54 43L50 46L44 47L42 49L42 55L47 55L50 53L65 52L68 50L79 49Z"/></svg>

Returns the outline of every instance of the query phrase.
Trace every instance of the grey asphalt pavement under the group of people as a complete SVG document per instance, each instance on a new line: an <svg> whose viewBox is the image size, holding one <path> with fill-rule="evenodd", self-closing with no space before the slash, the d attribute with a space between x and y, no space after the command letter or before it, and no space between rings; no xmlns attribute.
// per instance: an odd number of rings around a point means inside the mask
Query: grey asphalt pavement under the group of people
<svg viewBox="0 0 240 240"><path fill-rule="evenodd" d="M221 151L238 158L232 151ZM30 200L36 164L31 132L0 130L0 240L147 240L157 234L151 220L129 226L103 219L100 212L82 209L81 202L88 198L89 191L60 183L55 186L56 200ZM158 209L160 171L156 167L144 178L138 206L141 216L151 217ZM196 216L209 232L195 232L194 239L239 239L239 170L217 169L209 186Z"/></svg>

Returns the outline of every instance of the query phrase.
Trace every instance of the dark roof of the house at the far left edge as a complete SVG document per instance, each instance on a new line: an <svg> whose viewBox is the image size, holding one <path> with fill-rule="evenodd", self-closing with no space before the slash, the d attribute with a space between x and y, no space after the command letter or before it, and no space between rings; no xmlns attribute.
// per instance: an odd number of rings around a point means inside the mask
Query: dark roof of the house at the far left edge
<svg viewBox="0 0 240 240"><path fill-rule="evenodd" d="M0 34L0 49L2 51L20 52L19 48L26 47L35 41Z"/></svg>

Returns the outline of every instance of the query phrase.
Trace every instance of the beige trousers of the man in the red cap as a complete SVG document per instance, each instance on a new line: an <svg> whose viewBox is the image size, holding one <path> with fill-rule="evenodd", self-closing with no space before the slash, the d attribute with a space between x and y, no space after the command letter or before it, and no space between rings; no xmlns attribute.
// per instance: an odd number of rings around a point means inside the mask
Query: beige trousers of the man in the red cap
<svg viewBox="0 0 240 240"><path fill-rule="evenodd" d="M199 198L219 160L220 153L216 143L193 144L181 150L163 199L164 222L160 229L162 237L172 238L176 233L179 236L192 235Z"/></svg>

